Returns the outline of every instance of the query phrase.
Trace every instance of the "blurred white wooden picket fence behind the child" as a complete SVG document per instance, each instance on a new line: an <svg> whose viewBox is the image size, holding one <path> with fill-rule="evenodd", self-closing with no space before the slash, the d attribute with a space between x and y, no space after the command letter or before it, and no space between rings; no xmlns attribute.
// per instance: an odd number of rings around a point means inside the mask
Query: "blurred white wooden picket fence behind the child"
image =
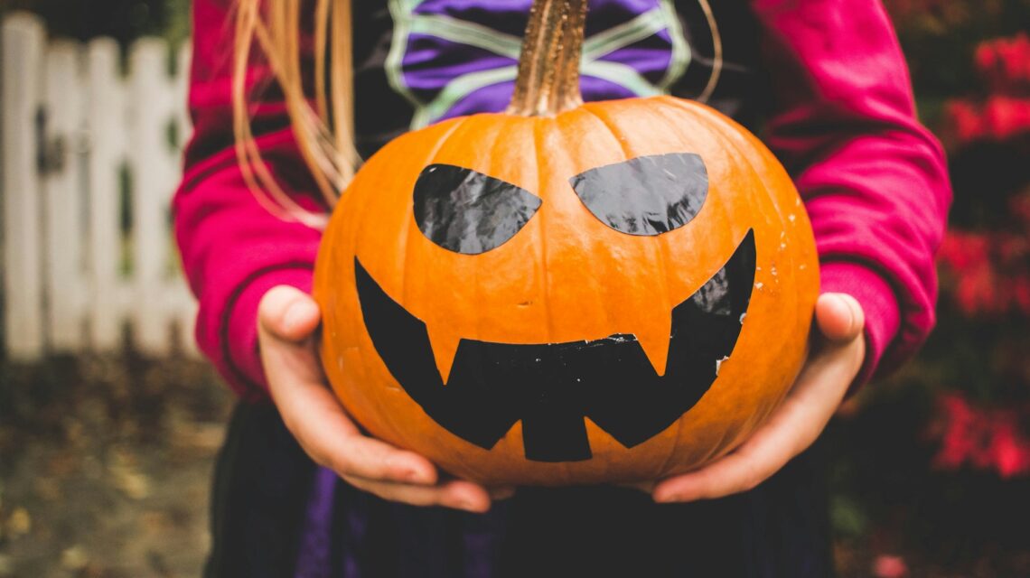
<svg viewBox="0 0 1030 578"><path fill-rule="evenodd" d="M10 359L193 354L196 305L178 273L169 205L188 135L188 56L48 39L35 16L2 23L3 298ZM176 138L172 138L177 135ZM129 207L129 208L127 208Z"/></svg>

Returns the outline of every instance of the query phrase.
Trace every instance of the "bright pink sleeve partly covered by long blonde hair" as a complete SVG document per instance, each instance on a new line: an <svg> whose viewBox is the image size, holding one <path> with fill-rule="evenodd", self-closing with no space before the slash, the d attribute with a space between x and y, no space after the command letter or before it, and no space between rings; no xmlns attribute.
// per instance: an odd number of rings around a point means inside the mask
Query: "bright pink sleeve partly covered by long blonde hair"
<svg viewBox="0 0 1030 578"><path fill-rule="evenodd" d="M173 203L175 236L200 301L197 342L239 395L260 398L267 385L258 355L258 303L289 284L310 291L320 233L262 207L237 166L231 98L231 0L195 0L190 111L194 135ZM250 87L270 73L251 66ZM280 184L316 208L314 184L297 149L281 96L269 88L253 111L258 146Z"/></svg>

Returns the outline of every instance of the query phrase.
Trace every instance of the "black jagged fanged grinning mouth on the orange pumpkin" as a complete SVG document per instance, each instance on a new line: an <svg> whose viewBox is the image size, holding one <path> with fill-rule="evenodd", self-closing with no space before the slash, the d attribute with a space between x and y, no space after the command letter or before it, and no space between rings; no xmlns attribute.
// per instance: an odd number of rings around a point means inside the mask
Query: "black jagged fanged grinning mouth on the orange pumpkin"
<svg viewBox="0 0 1030 578"><path fill-rule="evenodd" d="M519 420L525 457L592 456L589 417L623 446L672 426L712 386L736 344L755 278L754 231L726 264L672 310L659 375L631 334L565 343L461 339L446 382L425 324L393 301L354 259L366 329L393 378L455 436L490 449Z"/></svg>

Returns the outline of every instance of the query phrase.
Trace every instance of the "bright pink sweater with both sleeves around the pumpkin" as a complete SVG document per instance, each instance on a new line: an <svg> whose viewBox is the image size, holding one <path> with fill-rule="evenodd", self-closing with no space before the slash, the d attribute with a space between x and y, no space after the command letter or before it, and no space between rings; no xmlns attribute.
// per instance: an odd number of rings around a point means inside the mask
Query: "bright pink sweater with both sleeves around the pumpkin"
<svg viewBox="0 0 1030 578"><path fill-rule="evenodd" d="M175 232L200 300L201 349L238 394L260 399L267 385L258 303L277 284L310 290L319 232L268 213L237 167L227 4L194 3L195 134L174 200ZM943 155L916 118L907 69L879 2L752 0L751 12L772 87L762 136L804 199L823 291L851 294L865 310L862 383L912 355L934 324L933 254L951 200ZM250 75L255 86L269 71L255 65ZM273 173L316 207L278 94L263 98L254 127Z"/></svg>

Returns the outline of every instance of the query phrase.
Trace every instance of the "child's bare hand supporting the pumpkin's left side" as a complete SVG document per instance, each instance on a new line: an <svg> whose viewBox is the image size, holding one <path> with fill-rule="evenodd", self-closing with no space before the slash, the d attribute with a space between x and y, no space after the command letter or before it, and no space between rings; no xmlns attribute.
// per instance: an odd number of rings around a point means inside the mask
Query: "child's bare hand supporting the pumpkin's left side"
<svg viewBox="0 0 1030 578"><path fill-rule="evenodd" d="M462 480L440 481L425 457L363 435L325 385L313 334L320 311L290 286L265 294L258 341L272 400L286 428L315 463L385 500L485 512L490 494ZM496 489L495 498L511 490Z"/></svg>

